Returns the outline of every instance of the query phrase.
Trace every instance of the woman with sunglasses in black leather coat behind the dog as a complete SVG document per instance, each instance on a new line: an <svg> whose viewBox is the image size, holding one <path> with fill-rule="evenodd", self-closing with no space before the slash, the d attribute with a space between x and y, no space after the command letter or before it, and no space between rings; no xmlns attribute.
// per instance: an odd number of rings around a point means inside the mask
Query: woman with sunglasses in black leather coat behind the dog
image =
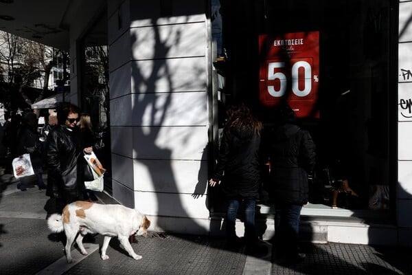
<svg viewBox="0 0 412 275"><path fill-rule="evenodd" d="M79 113L76 105L62 105L57 113L58 126L47 135L46 195L56 199L56 212L67 203L84 199L83 155L91 153L92 148L84 147L77 126Z"/></svg>

